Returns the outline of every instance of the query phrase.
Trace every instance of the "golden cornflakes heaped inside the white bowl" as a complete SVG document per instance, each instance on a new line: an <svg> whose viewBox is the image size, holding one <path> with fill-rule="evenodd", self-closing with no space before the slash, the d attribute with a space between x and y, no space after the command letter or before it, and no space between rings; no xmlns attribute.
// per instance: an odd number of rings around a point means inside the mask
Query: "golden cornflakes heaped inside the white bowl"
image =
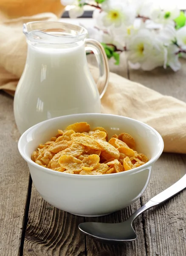
<svg viewBox="0 0 186 256"><path fill-rule="evenodd" d="M39 144L32 160L57 172L103 175L124 172L148 162L135 150L135 140L127 133L108 140L103 127L90 130L87 122L74 123L45 144Z"/></svg>

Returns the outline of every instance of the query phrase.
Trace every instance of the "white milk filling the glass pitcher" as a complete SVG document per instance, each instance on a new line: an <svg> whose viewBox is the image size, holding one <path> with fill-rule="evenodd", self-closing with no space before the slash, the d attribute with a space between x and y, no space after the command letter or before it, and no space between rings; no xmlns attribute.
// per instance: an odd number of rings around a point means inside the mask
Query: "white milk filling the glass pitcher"
<svg viewBox="0 0 186 256"><path fill-rule="evenodd" d="M43 45L28 44L25 69L14 97L14 115L21 134L56 116L100 113L100 96L87 66L84 44L70 44L70 48Z"/></svg>

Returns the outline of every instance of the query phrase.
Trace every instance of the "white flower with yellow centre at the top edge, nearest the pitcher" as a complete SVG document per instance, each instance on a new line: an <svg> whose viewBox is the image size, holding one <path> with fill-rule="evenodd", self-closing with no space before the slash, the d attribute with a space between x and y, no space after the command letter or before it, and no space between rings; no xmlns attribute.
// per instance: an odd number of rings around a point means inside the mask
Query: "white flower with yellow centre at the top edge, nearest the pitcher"
<svg viewBox="0 0 186 256"><path fill-rule="evenodd" d="M108 1L104 11L96 12L96 20L102 26L119 27L121 24L131 25L135 19L135 10L121 1Z"/></svg>

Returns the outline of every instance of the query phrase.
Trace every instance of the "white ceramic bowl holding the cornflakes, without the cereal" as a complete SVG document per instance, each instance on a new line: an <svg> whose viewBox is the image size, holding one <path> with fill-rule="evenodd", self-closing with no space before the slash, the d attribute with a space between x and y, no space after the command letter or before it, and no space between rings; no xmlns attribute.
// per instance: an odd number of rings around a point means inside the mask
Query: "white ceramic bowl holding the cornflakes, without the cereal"
<svg viewBox="0 0 186 256"><path fill-rule="evenodd" d="M137 151L149 162L130 171L107 175L75 175L56 172L31 160L39 143L50 140L57 129L75 122L87 122L91 128L102 126L109 136L129 133L135 138ZM150 126L123 116L76 114L60 116L34 125L20 137L18 148L27 161L33 183L42 198L59 209L82 216L99 216L129 206L144 193L152 165L163 151L163 140Z"/></svg>

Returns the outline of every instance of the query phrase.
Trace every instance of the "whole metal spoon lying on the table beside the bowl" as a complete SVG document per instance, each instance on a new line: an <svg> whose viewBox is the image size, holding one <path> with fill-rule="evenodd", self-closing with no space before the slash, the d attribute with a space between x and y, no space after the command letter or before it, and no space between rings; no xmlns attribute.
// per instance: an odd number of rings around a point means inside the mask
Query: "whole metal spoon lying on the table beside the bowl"
<svg viewBox="0 0 186 256"><path fill-rule="evenodd" d="M186 175L184 175L175 184L165 189L152 199L147 204L134 212L126 221L120 223L101 223L101 222L84 222L79 224L79 229L87 236L94 239L99 239L102 242L128 242L134 241L137 236L132 227L132 223L138 215L147 209L163 203L172 196L186 188Z"/></svg>

